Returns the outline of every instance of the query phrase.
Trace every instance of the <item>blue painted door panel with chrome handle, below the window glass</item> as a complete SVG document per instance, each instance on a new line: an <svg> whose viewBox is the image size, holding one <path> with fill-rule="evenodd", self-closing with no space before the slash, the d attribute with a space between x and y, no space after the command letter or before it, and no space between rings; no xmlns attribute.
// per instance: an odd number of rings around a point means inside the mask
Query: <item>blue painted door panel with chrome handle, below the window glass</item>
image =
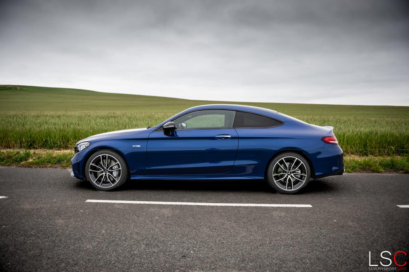
<svg viewBox="0 0 409 272"><path fill-rule="evenodd" d="M218 139L216 135L229 135ZM238 137L234 128L163 131L149 135L148 167L151 175L226 173L234 164Z"/></svg>

